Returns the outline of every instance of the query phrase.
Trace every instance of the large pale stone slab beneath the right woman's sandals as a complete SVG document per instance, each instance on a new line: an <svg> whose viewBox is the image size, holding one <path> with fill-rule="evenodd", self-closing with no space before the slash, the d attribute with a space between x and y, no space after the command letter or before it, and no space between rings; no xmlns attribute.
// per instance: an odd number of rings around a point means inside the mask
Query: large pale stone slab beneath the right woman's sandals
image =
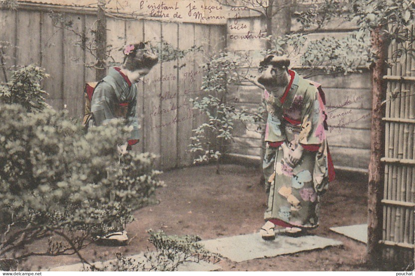
<svg viewBox="0 0 415 276"><path fill-rule="evenodd" d="M342 245L342 242L334 239L311 235L302 237L277 235L273 241L265 241L259 233L202 240L200 243L210 252L236 262Z"/></svg>

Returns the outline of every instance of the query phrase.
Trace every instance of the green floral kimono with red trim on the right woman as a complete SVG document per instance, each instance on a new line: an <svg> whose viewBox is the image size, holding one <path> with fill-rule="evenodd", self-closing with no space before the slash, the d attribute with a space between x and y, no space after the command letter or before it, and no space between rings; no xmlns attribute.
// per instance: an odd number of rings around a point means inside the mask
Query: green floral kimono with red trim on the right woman
<svg viewBox="0 0 415 276"><path fill-rule="evenodd" d="M325 98L317 83L289 71L291 81L280 99L264 91L267 110L264 174L270 183L265 220L286 227L317 227L320 195L334 179L327 147ZM281 145L303 155L294 167Z"/></svg>

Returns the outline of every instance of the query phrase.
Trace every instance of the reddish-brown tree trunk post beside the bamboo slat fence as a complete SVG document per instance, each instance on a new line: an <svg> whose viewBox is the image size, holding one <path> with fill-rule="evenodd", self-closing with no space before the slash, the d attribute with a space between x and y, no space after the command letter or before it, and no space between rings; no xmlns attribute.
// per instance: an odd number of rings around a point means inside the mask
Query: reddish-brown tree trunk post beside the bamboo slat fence
<svg viewBox="0 0 415 276"><path fill-rule="evenodd" d="M371 266L381 264L381 250L379 241L382 239L382 208L383 197L383 107L382 101L385 95L383 76L386 60L386 42L381 34L382 29L372 30L372 48L378 55L372 70L373 103L372 103L372 126L371 126L371 156L369 163L369 187L368 187L368 241L367 261Z"/></svg>

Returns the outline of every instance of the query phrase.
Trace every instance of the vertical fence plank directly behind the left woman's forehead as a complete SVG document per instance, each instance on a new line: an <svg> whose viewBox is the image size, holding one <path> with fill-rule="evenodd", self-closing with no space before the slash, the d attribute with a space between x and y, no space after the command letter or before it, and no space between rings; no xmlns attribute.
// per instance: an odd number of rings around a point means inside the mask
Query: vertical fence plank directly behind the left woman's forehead
<svg viewBox="0 0 415 276"><path fill-rule="evenodd" d="M144 39L152 43L160 43L161 24L157 21L144 22ZM161 142L161 66L157 64L144 78L144 147L146 151L160 156ZM160 159L155 161L155 166L160 166Z"/></svg>

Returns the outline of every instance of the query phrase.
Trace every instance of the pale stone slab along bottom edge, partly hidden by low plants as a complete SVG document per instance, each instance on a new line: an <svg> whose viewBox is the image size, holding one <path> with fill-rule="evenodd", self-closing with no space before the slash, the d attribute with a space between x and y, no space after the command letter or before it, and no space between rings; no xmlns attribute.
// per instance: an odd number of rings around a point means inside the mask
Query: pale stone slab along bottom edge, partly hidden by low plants
<svg viewBox="0 0 415 276"><path fill-rule="evenodd" d="M133 259L136 262L143 261L144 259L144 255L142 253L133 255L133 256L126 256L126 257ZM98 261L98 262L93 263L93 265L95 265L98 268L103 267L103 266L111 267L112 266L111 264L115 262L116 262L116 259L112 259L109 261ZM85 268L88 268L87 264L85 264ZM73 264L69 266L58 266L58 267L51 268L47 271L83 271L83 269L84 269L84 265L82 263L79 263L79 264ZM211 264L206 261L200 261L198 263L187 262L187 263L184 263L178 266L178 271L216 271L220 269L221 267L218 266L217 264Z"/></svg>

